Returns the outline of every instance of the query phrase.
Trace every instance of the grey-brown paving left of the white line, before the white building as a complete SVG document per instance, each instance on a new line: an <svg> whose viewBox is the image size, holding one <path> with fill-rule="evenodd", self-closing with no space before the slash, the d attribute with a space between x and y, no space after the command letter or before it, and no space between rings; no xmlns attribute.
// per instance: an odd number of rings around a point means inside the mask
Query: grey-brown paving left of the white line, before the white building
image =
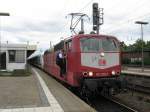
<svg viewBox="0 0 150 112"><path fill-rule="evenodd" d="M42 105L34 75L0 77L0 108Z"/></svg>

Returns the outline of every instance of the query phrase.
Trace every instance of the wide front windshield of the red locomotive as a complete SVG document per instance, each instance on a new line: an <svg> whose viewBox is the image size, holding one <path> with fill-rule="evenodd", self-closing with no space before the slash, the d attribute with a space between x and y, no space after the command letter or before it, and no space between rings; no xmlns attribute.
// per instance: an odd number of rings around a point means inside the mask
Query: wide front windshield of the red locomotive
<svg viewBox="0 0 150 112"><path fill-rule="evenodd" d="M111 38L81 38L81 52L118 51L118 44Z"/></svg>

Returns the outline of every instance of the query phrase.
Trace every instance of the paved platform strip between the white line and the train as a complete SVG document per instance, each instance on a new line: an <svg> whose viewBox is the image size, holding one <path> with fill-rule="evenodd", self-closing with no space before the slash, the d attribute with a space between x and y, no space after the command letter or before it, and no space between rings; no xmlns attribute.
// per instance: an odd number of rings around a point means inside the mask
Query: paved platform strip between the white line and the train
<svg viewBox="0 0 150 112"><path fill-rule="evenodd" d="M58 83L51 76L45 74L41 70L36 70L44 79L49 90L54 95L65 112L95 112L92 107L80 100L77 96L71 93L68 89L66 89L62 84Z"/></svg>

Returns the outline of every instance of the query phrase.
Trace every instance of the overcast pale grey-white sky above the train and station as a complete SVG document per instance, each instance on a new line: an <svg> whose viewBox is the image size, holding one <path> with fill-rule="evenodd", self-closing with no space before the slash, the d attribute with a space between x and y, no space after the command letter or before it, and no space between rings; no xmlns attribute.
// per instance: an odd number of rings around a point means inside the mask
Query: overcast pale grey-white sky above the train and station
<svg viewBox="0 0 150 112"><path fill-rule="evenodd" d="M150 22L150 0L0 0L0 17L3 43L38 44L48 48L50 41L56 44L61 37L71 35L69 30L72 12L86 13L85 31L92 30L92 3L104 8L102 34L118 37L127 44L140 38L140 26L135 21ZM66 17L67 16L67 17ZM144 40L150 40L150 24L144 26Z"/></svg>

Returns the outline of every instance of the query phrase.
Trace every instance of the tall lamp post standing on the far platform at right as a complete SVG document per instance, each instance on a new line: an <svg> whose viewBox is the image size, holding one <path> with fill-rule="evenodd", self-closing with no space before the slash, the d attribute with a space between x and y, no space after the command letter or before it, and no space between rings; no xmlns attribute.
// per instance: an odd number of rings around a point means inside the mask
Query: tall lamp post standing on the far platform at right
<svg viewBox="0 0 150 112"><path fill-rule="evenodd" d="M142 40L142 72L144 71L144 53L143 53L143 25L147 25L148 22L136 21L135 24L141 25L141 40Z"/></svg>

